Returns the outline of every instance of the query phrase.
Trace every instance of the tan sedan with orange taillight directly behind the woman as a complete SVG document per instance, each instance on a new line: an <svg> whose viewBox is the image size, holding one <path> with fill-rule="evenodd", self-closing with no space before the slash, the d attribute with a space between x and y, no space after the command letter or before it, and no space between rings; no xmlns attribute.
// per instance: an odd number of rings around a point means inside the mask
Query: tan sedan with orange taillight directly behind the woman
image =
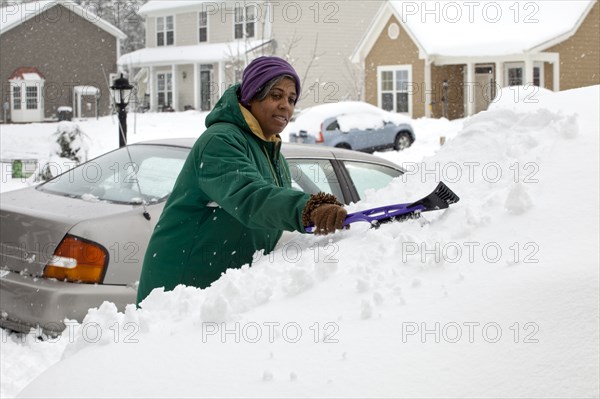
<svg viewBox="0 0 600 399"><path fill-rule="evenodd" d="M2 194L0 326L46 332L103 301L135 302L150 234L195 139L137 143L36 187ZM401 175L354 151L284 144L293 185L349 204ZM134 173L135 172L135 173ZM144 208L150 218L144 217Z"/></svg>

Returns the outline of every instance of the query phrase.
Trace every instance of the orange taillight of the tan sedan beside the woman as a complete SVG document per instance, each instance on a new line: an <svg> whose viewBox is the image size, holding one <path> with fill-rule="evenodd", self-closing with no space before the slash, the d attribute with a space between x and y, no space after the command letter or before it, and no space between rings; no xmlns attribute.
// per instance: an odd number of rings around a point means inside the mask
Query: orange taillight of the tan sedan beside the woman
<svg viewBox="0 0 600 399"><path fill-rule="evenodd" d="M66 235L60 242L44 277L81 283L101 283L108 263L108 253L91 241Z"/></svg>

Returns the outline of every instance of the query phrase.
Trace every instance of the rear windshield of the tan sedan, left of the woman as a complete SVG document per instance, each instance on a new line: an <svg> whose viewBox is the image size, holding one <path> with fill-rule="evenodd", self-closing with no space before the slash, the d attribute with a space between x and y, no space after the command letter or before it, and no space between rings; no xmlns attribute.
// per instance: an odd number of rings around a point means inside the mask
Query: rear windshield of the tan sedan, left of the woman
<svg viewBox="0 0 600 399"><path fill-rule="evenodd" d="M128 148L131 159L127 150L120 148L81 164L38 189L88 201L123 204L155 203L166 199L189 149L164 145L132 145Z"/></svg>

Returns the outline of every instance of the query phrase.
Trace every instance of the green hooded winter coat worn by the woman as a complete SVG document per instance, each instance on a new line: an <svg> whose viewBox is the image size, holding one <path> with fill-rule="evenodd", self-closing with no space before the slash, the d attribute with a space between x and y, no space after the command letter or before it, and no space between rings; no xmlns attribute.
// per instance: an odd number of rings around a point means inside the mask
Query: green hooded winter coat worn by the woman
<svg viewBox="0 0 600 399"><path fill-rule="evenodd" d="M283 230L304 232L309 195L291 189L281 139L264 140L238 87L207 116L175 182L144 257L138 303L157 287L208 287L257 250L271 252Z"/></svg>

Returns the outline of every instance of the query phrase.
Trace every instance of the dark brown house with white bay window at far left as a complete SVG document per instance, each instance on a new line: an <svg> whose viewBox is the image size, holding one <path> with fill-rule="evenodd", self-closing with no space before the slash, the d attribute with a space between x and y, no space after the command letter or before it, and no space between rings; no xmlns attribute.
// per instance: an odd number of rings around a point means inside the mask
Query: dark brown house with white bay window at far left
<svg viewBox="0 0 600 399"><path fill-rule="evenodd" d="M108 82L126 36L92 11L60 0L3 3L0 101L7 119L55 119L60 107L76 117L111 112Z"/></svg>

